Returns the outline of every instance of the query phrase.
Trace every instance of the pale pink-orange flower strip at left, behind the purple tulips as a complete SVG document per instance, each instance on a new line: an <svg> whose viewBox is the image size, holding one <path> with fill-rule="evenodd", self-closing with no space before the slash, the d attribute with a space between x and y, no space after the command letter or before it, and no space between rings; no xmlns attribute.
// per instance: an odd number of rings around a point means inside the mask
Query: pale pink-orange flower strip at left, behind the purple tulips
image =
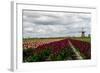
<svg viewBox="0 0 100 73"><path fill-rule="evenodd" d="M63 40L64 38L28 38L23 39L23 48L37 48L40 45L48 44L55 41Z"/></svg>

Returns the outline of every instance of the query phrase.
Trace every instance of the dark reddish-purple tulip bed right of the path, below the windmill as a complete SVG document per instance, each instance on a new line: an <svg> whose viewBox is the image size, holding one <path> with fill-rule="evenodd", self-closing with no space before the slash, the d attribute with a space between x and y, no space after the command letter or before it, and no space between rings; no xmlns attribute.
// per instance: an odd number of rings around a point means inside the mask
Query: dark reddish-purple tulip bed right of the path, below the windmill
<svg viewBox="0 0 100 73"><path fill-rule="evenodd" d="M86 58L91 57L91 44L84 41L69 39L73 46L79 50L80 53L86 56Z"/></svg>

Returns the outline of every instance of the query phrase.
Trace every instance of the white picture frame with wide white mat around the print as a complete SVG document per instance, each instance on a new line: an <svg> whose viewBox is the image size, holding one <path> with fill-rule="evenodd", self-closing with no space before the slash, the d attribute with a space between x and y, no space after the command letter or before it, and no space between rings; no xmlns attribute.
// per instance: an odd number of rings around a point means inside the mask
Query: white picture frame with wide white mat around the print
<svg viewBox="0 0 100 73"><path fill-rule="evenodd" d="M54 10L69 12L86 12L91 13L91 59L75 61L55 61L55 62L22 62L22 10ZM25 2L11 2L11 28L12 28L12 49L11 49L11 70L26 71L34 69L55 69L67 67L95 66L97 64L97 48L95 46L95 25L96 25L96 8L95 7L75 7L61 5L42 5Z"/></svg>

